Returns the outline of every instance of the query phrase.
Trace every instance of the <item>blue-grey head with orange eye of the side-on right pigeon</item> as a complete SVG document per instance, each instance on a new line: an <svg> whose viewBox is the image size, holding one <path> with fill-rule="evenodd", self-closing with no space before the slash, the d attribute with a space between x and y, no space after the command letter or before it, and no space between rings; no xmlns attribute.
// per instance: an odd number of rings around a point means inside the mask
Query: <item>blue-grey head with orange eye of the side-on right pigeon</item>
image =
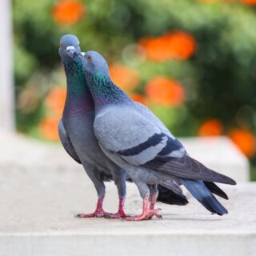
<svg viewBox="0 0 256 256"><path fill-rule="evenodd" d="M86 73L94 74L99 77L110 78L109 67L105 58L98 52L90 50L84 56Z"/></svg>

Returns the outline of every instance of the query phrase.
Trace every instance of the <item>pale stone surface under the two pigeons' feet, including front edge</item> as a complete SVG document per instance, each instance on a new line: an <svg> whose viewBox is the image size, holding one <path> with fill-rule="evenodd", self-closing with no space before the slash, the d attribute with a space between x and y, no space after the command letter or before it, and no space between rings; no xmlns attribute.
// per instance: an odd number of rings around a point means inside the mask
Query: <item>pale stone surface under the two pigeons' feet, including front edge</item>
<svg viewBox="0 0 256 256"><path fill-rule="evenodd" d="M186 192L190 200L187 206L158 203L162 220L78 219L74 214L93 211L97 199L82 166L58 145L8 134L0 134L0 141L1 256L255 255L256 184L253 182L222 186L230 196L229 201L220 199L230 211L223 217L209 214ZM226 158L217 164L211 155L216 154L216 160L226 153L221 141L215 141L217 144L210 144L206 150L200 140L182 142L195 158L224 168ZM231 144L231 149L226 148L230 154L234 153L232 147ZM238 150L235 154L234 161L237 158L244 161ZM230 164L234 164L231 160ZM235 174L241 170L233 171ZM128 184L126 211L138 214L141 205L137 188ZM117 210L118 196L113 183L107 184L104 206L111 212Z"/></svg>

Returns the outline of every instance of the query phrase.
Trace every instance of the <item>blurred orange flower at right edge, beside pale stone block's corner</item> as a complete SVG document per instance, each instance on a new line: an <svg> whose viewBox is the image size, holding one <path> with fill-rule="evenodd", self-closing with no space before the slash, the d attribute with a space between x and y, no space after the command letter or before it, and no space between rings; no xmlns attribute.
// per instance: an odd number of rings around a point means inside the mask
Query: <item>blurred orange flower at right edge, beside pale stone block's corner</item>
<svg viewBox="0 0 256 256"><path fill-rule="evenodd" d="M246 154L248 158L254 156L255 153L255 138L250 130L234 129L230 130L228 136L238 146L238 148Z"/></svg>

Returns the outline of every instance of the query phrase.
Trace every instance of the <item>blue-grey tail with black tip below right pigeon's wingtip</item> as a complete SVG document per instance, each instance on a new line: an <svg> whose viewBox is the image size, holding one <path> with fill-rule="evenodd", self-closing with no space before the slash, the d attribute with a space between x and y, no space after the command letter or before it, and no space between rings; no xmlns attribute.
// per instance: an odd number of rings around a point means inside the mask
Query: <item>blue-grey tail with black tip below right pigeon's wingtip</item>
<svg viewBox="0 0 256 256"><path fill-rule="evenodd" d="M204 182L201 180L190 180L190 179L180 179L182 184L187 190L201 202L203 206L206 207L213 214L223 215L227 214L228 211L222 206L220 202L211 194L210 190L206 187Z"/></svg>

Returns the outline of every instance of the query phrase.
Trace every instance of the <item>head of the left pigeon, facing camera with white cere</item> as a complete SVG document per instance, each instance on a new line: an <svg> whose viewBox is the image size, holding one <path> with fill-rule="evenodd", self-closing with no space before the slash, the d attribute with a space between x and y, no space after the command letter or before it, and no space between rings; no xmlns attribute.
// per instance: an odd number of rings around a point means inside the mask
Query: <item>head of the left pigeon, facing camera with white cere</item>
<svg viewBox="0 0 256 256"><path fill-rule="evenodd" d="M59 42L59 55L62 58L62 62L68 62L74 57L74 55L80 54L79 40L73 34L66 34L62 36Z"/></svg>

